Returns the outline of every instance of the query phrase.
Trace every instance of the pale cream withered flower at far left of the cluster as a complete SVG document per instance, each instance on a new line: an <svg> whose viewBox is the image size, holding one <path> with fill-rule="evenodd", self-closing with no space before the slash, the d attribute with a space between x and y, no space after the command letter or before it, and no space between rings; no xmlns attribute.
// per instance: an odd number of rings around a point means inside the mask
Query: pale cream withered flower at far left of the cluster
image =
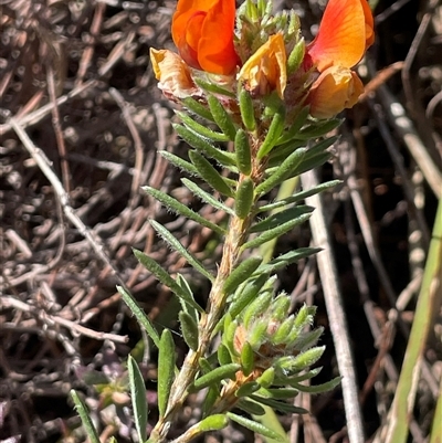
<svg viewBox="0 0 442 443"><path fill-rule="evenodd" d="M154 73L159 81L158 87L169 98L186 98L198 93L190 70L182 59L168 50L150 49Z"/></svg>

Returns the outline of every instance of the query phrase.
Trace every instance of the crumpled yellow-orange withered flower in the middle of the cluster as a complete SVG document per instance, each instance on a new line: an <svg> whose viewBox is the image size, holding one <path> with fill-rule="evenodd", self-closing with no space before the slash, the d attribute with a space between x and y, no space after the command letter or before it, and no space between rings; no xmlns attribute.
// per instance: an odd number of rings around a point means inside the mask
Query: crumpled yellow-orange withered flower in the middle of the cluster
<svg viewBox="0 0 442 443"><path fill-rule="evenodd" d="M274 34L244 63L238 78L252 95L264 96L276 91L283 98L287 84L286 64L284 38Z"/></svg>

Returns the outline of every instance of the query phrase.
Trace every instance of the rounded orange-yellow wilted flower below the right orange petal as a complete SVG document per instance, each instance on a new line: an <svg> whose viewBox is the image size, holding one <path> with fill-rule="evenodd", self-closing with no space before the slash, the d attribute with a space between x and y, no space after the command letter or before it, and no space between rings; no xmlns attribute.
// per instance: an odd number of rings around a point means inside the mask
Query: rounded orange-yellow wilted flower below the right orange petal
<svg viewBox="0 0 442 443"><path fill-rule="evenodd" d="M312 85L306 103L311 115L316 118L332 118L356 105L364 84L358 75L343 66L326 68Z"/></svg>

